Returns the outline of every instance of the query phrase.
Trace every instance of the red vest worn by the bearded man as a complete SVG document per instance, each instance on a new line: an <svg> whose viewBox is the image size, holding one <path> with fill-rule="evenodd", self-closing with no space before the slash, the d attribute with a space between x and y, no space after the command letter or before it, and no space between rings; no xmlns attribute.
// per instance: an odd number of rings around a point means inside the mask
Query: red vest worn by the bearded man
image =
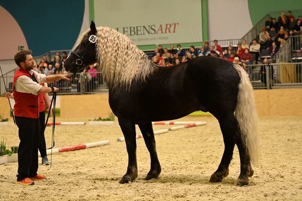
<svg viewBox="0 0 302 201"><path fill-rule="evenodd" d="M27 117L38 119L39 118L39 105L38 105L38 95L32 93L23 93L15 90L15 83L17 79L26 75L31 78L29 71L19 68L14 76L13 81L13 92L15 99L14 113L16 117Z"/></svg>

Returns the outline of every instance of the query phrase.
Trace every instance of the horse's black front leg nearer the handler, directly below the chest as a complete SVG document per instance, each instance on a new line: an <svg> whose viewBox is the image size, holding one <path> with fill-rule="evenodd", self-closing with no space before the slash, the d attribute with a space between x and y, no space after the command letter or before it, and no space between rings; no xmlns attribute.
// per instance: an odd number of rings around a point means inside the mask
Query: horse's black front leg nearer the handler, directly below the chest
<svg viewBox="0 0 302 201"><path fill-rule="evenodd" d="M135 124L131 120L123 118L119 118L118 122L124 134L128 152L127 172L119 182L128 183L137 177Z"/></svg>

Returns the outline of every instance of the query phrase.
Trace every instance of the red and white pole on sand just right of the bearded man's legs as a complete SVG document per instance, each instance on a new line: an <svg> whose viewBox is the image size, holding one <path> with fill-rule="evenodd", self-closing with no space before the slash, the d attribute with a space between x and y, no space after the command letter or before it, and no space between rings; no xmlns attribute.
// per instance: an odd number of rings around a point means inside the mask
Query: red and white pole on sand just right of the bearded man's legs
<svg viewBox="0 0 302 201"><path fill-rule="evenodd" d="M52 149L52 153L61 153L61 152L68 152L68 151L77 151L81 149L87 149L87 148L92 148L92 147L98 147L102 145L107 145L109 144L109 140L103 140L103 141L98 141L98 142L91 142L91 143L85 143L81 145L73 145L73 146L68 146L68 147L62 147L62 148L55 148ZM47 155L51 153L51 149L46 150ZM40 152L39 152L40 156Z"/></svg>

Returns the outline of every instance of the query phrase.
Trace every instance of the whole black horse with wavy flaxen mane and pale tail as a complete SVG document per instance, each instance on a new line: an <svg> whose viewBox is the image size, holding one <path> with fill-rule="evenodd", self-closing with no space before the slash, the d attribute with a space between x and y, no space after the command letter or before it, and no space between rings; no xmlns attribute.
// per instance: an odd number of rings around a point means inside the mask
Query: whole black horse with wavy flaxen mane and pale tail
<svg viewBox="0 0 302 201"><path fill-rule="evenodd" d="M90 30L65 61L65 69L78 72L98 62L109 88L109 104L125 137L128 167L120 183L137 177L135 124L139 126L150 153L151 167L145 179L158 178L158 160L152 121L184 117L194 111L208 111L218 121L224 152L210 182L229 174L235 144L241 172L238 185L247 185L257 161L257 114L253 88L239 65L212 56L194 58L173 67L159 67L123 34L106 28ZM236 117L234 115L236 114Z"/></svg>

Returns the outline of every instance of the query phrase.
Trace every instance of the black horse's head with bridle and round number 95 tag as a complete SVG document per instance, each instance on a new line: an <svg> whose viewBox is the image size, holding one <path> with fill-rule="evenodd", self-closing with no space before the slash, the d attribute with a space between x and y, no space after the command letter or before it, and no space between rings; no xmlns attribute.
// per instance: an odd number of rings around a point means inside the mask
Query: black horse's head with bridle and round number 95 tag
<svg viewBox="0 0 302 201"><path fill-rule="evenodd" d="M91 21L90 31L84 36L80 44L70 52L64 62L66 71L72 73L81 71L85 66L96 63L97 28Z"/></svg>

